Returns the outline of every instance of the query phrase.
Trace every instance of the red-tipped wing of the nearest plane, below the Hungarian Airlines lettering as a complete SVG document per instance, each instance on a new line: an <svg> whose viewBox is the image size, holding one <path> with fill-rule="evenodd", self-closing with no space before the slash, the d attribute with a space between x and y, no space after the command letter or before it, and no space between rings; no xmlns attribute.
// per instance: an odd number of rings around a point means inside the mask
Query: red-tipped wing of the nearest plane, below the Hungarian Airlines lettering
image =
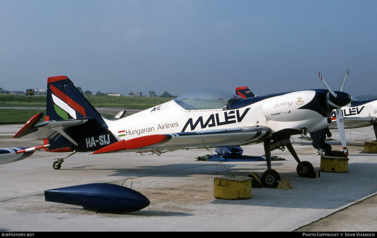
<svg viewBox="0 0 377 238"><path fill-rule="evenodd" d="M172 134L141 136L120 140L93 152L92 154L116 151L155 151L193 148L213 148L259 143L272 133L263 126L224 128L204 131L190 131Z"/></svg>

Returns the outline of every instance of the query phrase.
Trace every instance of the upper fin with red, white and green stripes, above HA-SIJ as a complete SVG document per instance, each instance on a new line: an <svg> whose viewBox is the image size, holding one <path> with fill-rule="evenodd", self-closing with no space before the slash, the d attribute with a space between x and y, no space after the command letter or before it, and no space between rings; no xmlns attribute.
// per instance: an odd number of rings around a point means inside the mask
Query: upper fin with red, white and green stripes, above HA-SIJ
<svg viewBox="0 0 377 238"><path fill-rule="evenodd" d="M92 117L103 121L100 113L87 101L66 76L47 78L45 121Z"/></svg>

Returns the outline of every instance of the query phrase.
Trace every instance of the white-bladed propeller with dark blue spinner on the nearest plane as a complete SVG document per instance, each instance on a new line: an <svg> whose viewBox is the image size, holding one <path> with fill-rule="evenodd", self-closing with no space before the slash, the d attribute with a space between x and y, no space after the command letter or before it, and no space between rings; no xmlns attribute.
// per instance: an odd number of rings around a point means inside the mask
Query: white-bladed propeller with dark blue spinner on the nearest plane
<svg viewBox="0 0 377 238"><path fill-rule="evenodd" d="M333 106L336 108L336 124L338 127L339 131L339 137L340 141L342 142L342 147L343 147L343 152L345 156L348 156L348 150L347 150L347 143L346 143L346 135L344 131L344 122L343 122L343 115L342 115L342 107L348 104L351 101L351 96L347 93L342 92L343 91L343 86L346 83L346 80L349 75L349 69L346 72L346 75L344 76L342 86L340 86L340 90L338 94L336 94L329 85L326 83L325 79L322 78L322 75L320 72L318 72L319 78L322 80L323 84L325 84L325 87L327 90L329 90L329 93L333 96L333 98L329 98L330 96L328 95L328 104L329 106ZM338 99L337 99L338 98ZM346 102L346 103L345 103Z"/></svg>

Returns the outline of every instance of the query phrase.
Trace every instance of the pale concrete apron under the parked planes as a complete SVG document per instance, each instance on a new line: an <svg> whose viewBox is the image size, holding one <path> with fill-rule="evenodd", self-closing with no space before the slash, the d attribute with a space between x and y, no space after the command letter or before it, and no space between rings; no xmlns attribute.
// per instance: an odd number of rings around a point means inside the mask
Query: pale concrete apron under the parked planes
<svg viewBox="0 0 377 238"><path fill-rule="evenodd" d="M0 126L2 148L42 143L11 139L20 127ZM363 130L370 133L370 128ZM195 161L195 157L208 154L207 150L181 150L161 156L80 153L69 157L60 170L52 168L53 159L66 154L37 151L32 157L0 166L1 228L3 231L295 230L377 192L375 155L363 153L362 142L370 139L360 133L351 135L358 141L348 145L348 172L323 172L319 178L302 178L297 175L297 163L287 150L273 151L272 154L279 153L286 161L272 162L272 168L293 189L253 188L253 196L247 200L214 198L214 178L230 174L219 162ZM329 143L334 149L341 148L335 145L339 142ZM301 160L311 162L319 170L320 157L310 142L295 139L294 147ZM242 148L245 155L264 154L262 144ZM265 162L223 164L238 176L250 172L261 175L266 170ZM98 182L121 185L127 177L133 178L132 189L149 198L150 206L129 214L95 214L79 206L44 201L43 191L47 189ZM130 185L129 180L125 185Z"/></svg>

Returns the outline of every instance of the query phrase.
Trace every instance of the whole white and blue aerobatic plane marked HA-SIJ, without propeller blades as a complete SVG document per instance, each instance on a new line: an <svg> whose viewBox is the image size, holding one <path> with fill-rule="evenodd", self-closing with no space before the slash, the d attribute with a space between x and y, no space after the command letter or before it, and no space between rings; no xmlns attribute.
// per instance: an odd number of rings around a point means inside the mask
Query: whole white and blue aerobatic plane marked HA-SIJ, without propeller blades
<svg viewBox="0 0 377 238"><path fill-rule="evenodd" d="M263 142L267 171L262 182L266 187L276 187L280 180L271 169L271 151L277 148L288 148L300 176L313 173L313 165L299 160L289 138L328 127L332 111L351 101L347 93L331 89L242 98L220 89L201 88L124 118L106 119L66 76L47 81L45 121L40 121L43 113L36 114L15 138L44 139L48 145L44 150L49 152L92 154L133 151L160 155L179 149ZM54 169L60 169L65 158L55 161Z"/></svg>

